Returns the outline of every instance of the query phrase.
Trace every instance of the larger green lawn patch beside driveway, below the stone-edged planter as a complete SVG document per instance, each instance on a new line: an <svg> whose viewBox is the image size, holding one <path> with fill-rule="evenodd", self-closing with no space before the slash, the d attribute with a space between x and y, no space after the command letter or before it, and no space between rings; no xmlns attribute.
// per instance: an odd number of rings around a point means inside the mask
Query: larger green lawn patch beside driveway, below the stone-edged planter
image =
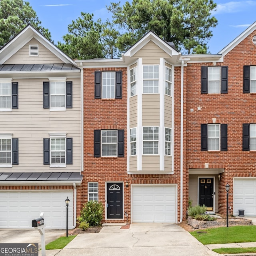
<svg viewBox="0 0 256 256"><path fill-rule="evenodd" d="M202 244L256 242L256 226L208 228L190 232Z"/></svg>

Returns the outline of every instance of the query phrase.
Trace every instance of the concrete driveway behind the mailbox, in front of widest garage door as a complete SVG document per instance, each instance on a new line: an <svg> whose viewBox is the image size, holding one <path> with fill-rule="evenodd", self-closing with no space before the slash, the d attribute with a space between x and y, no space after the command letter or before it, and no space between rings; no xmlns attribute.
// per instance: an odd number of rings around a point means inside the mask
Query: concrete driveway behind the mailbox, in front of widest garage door
<svg viewBox="0 0 256 256"><path fill-rule="evenodd" d="M64 229L45 229L45 244L60 236L66 236ZM38 243L41 248L41 235L36 229L0 229L0 243Z"/></svg>

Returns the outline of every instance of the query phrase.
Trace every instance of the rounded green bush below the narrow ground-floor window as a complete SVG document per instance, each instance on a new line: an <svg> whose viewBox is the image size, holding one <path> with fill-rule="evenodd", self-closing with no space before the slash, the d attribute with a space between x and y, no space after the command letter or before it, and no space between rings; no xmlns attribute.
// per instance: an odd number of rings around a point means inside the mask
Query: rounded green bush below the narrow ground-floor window
<svg viewBox="0 0 256 256"><path fill-rule="evenodd" d="M84 204L78 222L86 222L89 226L99 226L103 218L103 210L101 202L89 201Z"/></svg>

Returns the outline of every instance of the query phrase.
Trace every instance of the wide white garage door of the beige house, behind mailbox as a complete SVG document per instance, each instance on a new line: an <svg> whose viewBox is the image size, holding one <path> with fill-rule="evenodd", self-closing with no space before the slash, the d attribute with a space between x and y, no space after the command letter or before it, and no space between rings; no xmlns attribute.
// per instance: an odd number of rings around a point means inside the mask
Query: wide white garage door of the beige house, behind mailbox
<svg viewBox="0 0 256 256"><path fill-rule="evenodd" d="M65 199L68 225L73 226L73 191L0 191L0 228L31 228L31 222L44 212L45 228L66 228Z"/></svg>

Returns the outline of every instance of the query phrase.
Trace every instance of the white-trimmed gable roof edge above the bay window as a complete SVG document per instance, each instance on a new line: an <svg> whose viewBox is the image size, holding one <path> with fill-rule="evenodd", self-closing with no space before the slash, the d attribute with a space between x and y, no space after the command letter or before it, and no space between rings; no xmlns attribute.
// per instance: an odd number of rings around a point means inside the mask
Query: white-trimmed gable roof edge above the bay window
<svg viewBox="0 0 256 256"><path fill-rule="evenodd" d="M150 30L147 34L145 34L138 42L136 42L133 46L131 46L126 52L123 54L123 58L131 58L134 54L136 54L142 47L144 47L148 42L154 42L159 48L164 50L170 57L174 57L175 61L179 60L180 52L178 52L172 45L168 42L165 42L156 35L152 30Z"/></svg>

